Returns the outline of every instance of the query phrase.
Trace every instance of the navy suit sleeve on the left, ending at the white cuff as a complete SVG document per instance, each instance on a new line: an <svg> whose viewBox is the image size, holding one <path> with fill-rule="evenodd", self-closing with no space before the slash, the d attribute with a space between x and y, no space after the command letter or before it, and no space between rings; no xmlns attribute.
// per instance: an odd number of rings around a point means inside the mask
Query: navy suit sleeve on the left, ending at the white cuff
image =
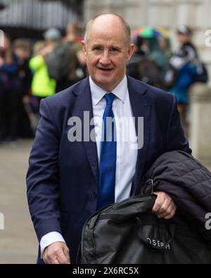
<svg viewBox="0 0 211 278"><path fill-rule="evenodd" d="M46 100L41 101L40 114L27 171L27 199L39 241L49 232L61 234L57 205L60 137Z"/></svg>

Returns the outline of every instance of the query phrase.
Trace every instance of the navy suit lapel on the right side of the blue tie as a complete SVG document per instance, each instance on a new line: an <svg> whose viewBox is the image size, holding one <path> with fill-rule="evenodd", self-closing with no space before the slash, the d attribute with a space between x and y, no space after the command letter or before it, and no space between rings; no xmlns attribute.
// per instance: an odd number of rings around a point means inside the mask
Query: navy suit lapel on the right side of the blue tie
<svg viewBox="0 0 211 278"><path fill-rule="evenodd" d="M143 117L143 146L138 150L138 156L136 161L136 172L132 182L131 196L134 195L136 187L138 187L141 181L141 175L143 172L143 167L146 160L146 155L148 152L148 142L150 135L150 126L151 126L151 98L146 96L146 87L141 88L141 84L137 83L135 80L132 80L131 77L127 78L128 89L129 89L129 98L132 105L133 116L136 120L136 134L138 137L138 132L142 129L138 127L138 118ZM141 134L142 135L142 134ZM140 137L140 134L139 134Z"/></svg>

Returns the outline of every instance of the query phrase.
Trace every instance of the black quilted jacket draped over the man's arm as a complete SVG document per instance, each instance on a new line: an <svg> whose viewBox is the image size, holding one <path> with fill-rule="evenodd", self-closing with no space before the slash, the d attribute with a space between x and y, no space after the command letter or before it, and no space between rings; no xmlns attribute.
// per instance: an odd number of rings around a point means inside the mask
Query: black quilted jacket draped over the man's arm
<svg viewBox="0 0 211 278"><path fill-rule="evenodd" d="M179 213L211 241L205 229L211 213L211 173L184 151L162 154L141 179L137 194L165 191L177 204Z"/></svg>

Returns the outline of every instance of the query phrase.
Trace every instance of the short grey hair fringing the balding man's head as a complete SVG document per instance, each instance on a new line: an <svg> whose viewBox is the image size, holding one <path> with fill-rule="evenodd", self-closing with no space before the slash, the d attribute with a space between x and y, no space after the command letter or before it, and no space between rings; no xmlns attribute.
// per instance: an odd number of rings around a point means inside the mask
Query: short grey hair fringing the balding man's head
<svg viewBox="0 0 211 278"><path fill-rule="evenodd" d="M89 41L89 31L91 29L91 26L93 25L94 21L97 18L99 18L101 15L115 15L115 14L104 13L104 14L96 15L94 18L89 20L89 22L87 23L87 26L86 26L85 34L84 34L84 42L86 42L86 44ZM120 22L122 23L122 27L124 28L124 34L125 34L126 39L127 39L127 44L129 45L131 43L131 30L130 30L129 24L124 20L124 18L122 18L121 15L115 15L115 16L117 18L119 18Z"/></svg>

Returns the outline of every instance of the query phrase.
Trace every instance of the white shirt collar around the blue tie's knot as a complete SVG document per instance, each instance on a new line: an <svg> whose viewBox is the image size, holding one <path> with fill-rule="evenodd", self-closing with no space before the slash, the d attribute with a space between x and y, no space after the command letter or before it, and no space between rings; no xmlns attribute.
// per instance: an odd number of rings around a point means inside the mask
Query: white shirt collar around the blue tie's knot
<svg viewBox="0 0 211 278"><path fill-rule="evenodd" d="M101 87L98 87L98 85L96 85L93 82L93 80L91 79L90 76L89 76L89 84L90 84L90 89L91 89L91 99L92 99L93 105L96 106L101 101L101 99L103 99L103 96L105 96L105 94L108 93L108 91L104 91L103 89L101 89ZM127 91L128 91L127 77L126 77L126 75L124 75L124 78L120 82L120 84L118 84L117 87L115 87L115 89L113 89L113 91L110 91L110 93L115 94L115 96L117 96L117 98L120 99L124 103Z"/></svg>

